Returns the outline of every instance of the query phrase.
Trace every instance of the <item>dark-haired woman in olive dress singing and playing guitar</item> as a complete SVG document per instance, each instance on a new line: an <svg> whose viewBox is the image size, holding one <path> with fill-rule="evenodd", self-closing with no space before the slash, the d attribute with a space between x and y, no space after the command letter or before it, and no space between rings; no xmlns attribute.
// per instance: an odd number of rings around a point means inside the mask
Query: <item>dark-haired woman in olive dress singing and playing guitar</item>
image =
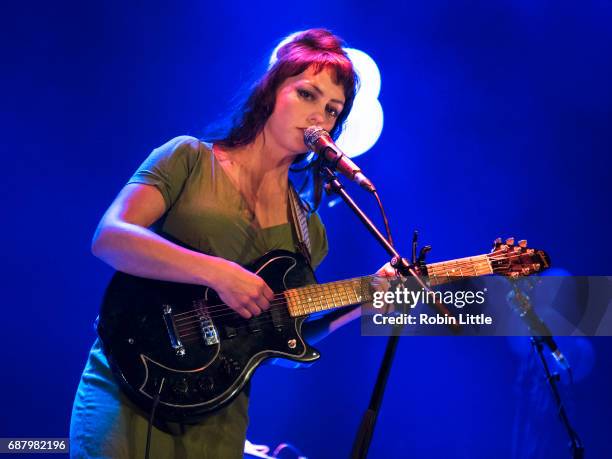
<svg viewBox="0 0 612 459"><path fill-rule="evenodd" d="M153 151L103 216L94 255L136 276L210 286L244 318L265 311L273 292L241 265L272 249L295 250L289 168L307 150L305 128L339 135L356 81L337 37L322 29L295 35L277 51L227 135L213 143L177 137ZM318 201L320 183L313 183ZM316 213L308 230L316 267L327 253ZM342 314L311 328L324 336L348 321ZM157 425L152 456L242 457L247 407L243 391L198 425ZM147 427L146 413L121 393L97 340L74 402L72 456L143 457Z"/></svg>

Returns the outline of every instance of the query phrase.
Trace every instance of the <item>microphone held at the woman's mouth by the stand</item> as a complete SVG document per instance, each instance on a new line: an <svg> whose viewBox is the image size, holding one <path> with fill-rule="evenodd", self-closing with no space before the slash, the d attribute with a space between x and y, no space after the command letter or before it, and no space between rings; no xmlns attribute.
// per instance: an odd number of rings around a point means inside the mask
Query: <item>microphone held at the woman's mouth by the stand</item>
<svg viewBox="0 0 612 459"><path fill-rule="evenodd" d="M345 155L334 143L329 133L319 126L310 126L304 130L304 143L308 148L331 163L332 167L349 180L357 182L359 186L371 193L376 192L374 184L363 175L361 169Z"/></svg>

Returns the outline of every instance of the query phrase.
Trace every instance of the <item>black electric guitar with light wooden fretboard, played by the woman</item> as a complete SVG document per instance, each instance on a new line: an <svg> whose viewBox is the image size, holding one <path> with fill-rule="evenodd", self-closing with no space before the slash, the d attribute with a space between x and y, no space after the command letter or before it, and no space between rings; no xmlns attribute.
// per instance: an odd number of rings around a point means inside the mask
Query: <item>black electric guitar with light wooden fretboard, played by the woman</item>
<svg viewBox="0 0 612 459"><path fill-rule="evenodd" d="M429 283L487 274L529 275L550 260L540 250L498 243L490 254L431 263ZM231 401L270 358L309 364L319 353L302 338L311 314L372 300L372 276L317 284L301 255L273 251L247 267L275 292L268 311L243 319L214 290L117 272L104 296L98 334L113 373L145 411L197 422Z"/></svg>

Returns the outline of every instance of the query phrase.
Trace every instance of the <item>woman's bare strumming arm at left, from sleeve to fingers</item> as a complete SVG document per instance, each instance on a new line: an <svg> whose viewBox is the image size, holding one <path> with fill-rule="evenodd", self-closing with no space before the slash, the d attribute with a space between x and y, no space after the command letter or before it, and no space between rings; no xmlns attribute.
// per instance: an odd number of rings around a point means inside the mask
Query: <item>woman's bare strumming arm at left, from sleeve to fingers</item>
<svg viewBox="0 0 612 459"><path fill-rule="evenodd" d="M116 270L135 276L209 286L245 318L269 307L274 294L259 276L149 230L165 211L164 199L155 186L126 185L102 217L92 253Z"/></svg>

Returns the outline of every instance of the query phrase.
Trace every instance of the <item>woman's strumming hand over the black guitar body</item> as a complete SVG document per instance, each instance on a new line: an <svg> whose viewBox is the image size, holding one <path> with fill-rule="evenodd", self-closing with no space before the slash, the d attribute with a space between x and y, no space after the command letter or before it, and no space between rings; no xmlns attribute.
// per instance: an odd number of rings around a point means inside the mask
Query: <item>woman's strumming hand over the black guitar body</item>
<svg viewBox="0 0 612 459"><path fill-rule="evenodd" d="M217 263L211 287L226 305L245 319L270 307L274 292L261 277L223 258L219 258Z"/></svg>

